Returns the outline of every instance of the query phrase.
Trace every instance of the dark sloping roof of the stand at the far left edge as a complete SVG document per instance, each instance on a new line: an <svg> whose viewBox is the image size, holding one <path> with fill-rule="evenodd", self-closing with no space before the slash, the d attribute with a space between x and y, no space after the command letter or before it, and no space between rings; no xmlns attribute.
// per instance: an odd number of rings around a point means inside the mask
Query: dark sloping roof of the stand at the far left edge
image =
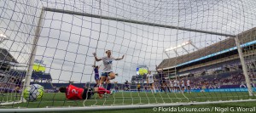
<svg viewBox="0 0 256 113"><path fill-rule="evenodd" d="M9 65L19 63L5 48L0 48L0 62Z"/></svg>

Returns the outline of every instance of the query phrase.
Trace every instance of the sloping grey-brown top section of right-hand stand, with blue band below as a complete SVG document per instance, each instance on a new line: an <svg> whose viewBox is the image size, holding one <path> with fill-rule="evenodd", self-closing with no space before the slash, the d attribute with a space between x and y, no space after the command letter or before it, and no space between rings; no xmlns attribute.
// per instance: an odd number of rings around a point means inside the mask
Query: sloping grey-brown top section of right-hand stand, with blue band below
<svg viewBox="0 0 256 113"><path fill-rule="evenodd" d="M240 39L241 44L247 44L247 42L250 42L249 44L252 44L252 42L255 43L255 41L253 41L254 38L247 38L247 37L256 37L255 35L256 35L256 27L238 34L238 38ZM171 59L164 59L160 63L158 68L171 69L175 66L180 66L184 64L188 65L189 63L192 63L194 60L199 61L206 57L212 57L214 54L223 54L222 52L229 52L231 50L236 49L235 47L236 47L235 38L228 37L223 41L216 42L206 48L201 48L195 52L184 54Z"/></svg>

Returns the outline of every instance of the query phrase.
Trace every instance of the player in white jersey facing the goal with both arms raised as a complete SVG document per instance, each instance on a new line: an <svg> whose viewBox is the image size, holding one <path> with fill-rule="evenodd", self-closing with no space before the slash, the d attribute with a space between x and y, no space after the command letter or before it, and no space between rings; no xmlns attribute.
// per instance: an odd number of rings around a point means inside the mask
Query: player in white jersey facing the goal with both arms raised
<svg viewBox="0 0 256 113"><path fill-rule="evenodd" d="M111 56L111 51L110 50L107 50L106 54L107 54L107 56L102 57L102 59L98 59L96 57L96 53L93 53L96 61L101 61L101 60L103 61L103 66L104 67L103 67L103 70L102 70L102 76L101 76L101 80L100 80L100 87L102 87L103 82L108 82L107 90L110 90L111 83L109 82L109 80L112 80L115 77L115 74L113 73L113 69L112 69L113 60L124 59L125 55L123 55L122 58L115 59Z"/></svg>

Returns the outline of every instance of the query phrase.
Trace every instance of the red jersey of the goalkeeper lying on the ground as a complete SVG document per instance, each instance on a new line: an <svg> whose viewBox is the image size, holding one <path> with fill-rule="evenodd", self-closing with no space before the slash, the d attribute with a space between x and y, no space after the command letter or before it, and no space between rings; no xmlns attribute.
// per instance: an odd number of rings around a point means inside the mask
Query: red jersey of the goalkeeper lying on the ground
<svg viewBox="0 0 256 113"><path fill-rule="evenodd" d="M77 88L73 85L67 87L66 98L67 99L83 99L82 95L84 93L84 88Z"/></svg>

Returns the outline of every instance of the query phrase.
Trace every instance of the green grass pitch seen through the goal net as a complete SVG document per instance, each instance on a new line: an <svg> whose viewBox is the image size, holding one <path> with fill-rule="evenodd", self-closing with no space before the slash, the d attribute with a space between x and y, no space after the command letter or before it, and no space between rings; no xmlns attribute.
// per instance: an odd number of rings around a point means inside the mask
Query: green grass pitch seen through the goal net
<svg viewBox="0 0 256 113"><path fill-rule="evenodd" d="M10 93L9 93L10 94ZM15 95L15 94L10 94ZM7 97L1 97L5 100ZM9 97L10 99L10 97ZM98 99L96 94L92 99L87 100L67 100L64 93L44 93L44 97L35 102L27 102L16 105L1 106L4 108L41 108L41 107L62 107L62 106L91 106L91 105L148 105L148 104L165 104L165 103L187 103L187 102L206 102L218 100L240 100L256 99L254 96L249 97L247 92L216 92L216 93L135 93L119 92L109 95L106 99ZM189 105L188 108L212 108L212 107L254 107L255 102L225 103L212 105ZM179 107L174 107L179 108ZM154 112L152 108L136 110L93 110L88 112Z"/></svg>

